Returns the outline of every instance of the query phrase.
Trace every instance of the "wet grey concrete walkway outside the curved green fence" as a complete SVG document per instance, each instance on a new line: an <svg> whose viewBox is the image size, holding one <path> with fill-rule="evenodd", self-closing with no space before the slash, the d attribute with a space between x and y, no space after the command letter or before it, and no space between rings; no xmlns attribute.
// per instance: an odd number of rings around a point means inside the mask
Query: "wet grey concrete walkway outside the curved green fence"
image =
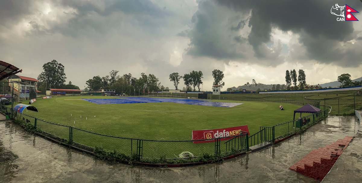
<svg viewBox="0 0 362 183"><path fill-rule="evenodd" d="M108 164L29 134L16 124L0 122L0 143L19 156L12 162L0 165L0 182L317 183L289 170L289 167L313 149L347 135L354 136L358 127L353 116L331 116L302 135L222 163L185 168L144 168ZM347 154L345 152L341 157ZM362 177L361 172L355 176Z"/></svg>

